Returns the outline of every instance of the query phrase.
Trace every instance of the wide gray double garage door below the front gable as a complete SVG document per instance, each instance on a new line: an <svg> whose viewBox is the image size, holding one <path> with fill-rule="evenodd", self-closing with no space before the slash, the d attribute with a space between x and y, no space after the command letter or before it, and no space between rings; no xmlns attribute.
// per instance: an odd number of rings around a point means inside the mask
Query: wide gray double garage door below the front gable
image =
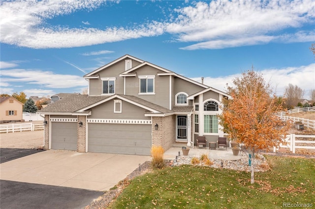
<svg viewBox="0 0 315 209"><path fill-rule="evenodd" d="M89 124L88 151L149 156L151 125Z"/></svg>

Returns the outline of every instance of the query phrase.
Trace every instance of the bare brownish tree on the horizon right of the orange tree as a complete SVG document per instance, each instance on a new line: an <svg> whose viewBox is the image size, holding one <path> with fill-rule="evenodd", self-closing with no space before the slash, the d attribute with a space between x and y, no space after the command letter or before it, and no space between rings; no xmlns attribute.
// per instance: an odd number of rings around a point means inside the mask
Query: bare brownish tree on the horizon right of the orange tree
<svg viewBox="0 0 315 209"><path fill-rule="evenodd" d="M293 85L289 83L288 86L285 87L284 95L286 98L286 107L292 108L293 106L296 106L299 101L304 96L304 90L302 90L297 85Z"/></svg>

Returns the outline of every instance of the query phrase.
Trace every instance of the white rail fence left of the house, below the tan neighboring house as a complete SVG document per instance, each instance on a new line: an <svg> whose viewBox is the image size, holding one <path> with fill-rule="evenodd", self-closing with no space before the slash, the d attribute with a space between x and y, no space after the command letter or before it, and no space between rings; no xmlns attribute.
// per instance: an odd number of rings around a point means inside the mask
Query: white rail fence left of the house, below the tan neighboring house
<svg viewBox="0 0 315 209"><path fill-rule="evenodd" d="M44 130L43 124L23 123L0 125L0 133Z"/></svg>

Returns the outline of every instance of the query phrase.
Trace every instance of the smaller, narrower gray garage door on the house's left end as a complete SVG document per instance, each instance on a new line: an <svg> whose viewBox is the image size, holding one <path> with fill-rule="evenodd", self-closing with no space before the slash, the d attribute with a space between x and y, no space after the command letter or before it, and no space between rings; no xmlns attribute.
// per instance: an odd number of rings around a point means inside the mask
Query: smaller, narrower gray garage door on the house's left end
<svg viewBox="0 0 315 209"><path fill-rule="evenodd" d="M77 150L77 123L51 123L51 149Z"/></svg>

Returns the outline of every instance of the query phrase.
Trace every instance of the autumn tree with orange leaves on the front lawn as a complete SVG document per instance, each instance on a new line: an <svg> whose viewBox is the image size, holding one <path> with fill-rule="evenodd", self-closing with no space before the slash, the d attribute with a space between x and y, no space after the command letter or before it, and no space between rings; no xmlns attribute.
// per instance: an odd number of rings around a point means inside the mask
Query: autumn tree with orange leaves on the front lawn
<svg viewBox="0 0 315 209"><path fill-rule="evenodd" d="M254 155L261 150L279 146L291 124L275 115L281 109L272 88L261 74L243 73L227 86L231 100L223 101L220 124L230 139L251 154L251 183L254 183Z"/></svg>

